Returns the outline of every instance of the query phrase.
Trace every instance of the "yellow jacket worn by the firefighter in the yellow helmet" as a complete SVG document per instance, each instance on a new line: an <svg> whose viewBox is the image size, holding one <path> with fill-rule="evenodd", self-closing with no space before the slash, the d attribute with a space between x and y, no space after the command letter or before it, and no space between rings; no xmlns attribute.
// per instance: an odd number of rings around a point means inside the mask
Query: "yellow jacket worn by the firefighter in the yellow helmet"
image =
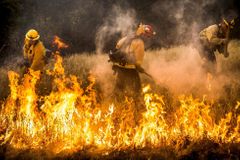
<svg viewBox="0 0 240 160"><path fill-rule="evenodd" d="M24 59L27 59L30 63L30 68L33 70L42 70L45 66L45 54L46 49L41 41L38 41L35 45L29 45L27 40L23 47Z"/></svg>

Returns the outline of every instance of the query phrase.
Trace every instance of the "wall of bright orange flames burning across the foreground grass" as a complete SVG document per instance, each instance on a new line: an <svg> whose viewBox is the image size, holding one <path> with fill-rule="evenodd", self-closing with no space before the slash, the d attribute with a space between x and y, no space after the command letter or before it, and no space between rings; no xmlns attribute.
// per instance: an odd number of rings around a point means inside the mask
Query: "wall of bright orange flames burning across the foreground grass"
<svg viewBox="0 0 240 160"><path fill-rule="evenodd" d="M216 143L240 143L240 115L229 112L216 122L206 97L179 97L179 106L169 122L164 97L152 93L149 85L143 88L144 110L139 112L140 105L128 98L122 104L99 103L95 77L90 75L88 87L82 88L78 77L65 75L58 54L47 74L53 76L53 89L39 97L35 92L39 72L30 70L21 80L9 71L11 92L0 110L1 145L58 154L162 146L178 150L185 138L191 142L208 138Z"/></svg>

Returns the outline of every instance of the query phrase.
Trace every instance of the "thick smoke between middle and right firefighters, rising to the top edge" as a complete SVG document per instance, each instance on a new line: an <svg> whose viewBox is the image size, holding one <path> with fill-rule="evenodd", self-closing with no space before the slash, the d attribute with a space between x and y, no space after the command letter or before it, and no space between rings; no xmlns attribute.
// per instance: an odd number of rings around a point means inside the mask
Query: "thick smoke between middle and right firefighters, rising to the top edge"
<svg viewBox="0 0 240 160"><path fill-rule="evenodd" d="M223 17L224 10L216 3L215 0L184 0L157 1L152 5L151 12L158 20L154 23L158 33L154 40L168 47L146 52L149 55L145 56L144 66L157 84L166 86L175 95L207 94L219 98L224 92L223 87L234 79L228 69L222 72L223 56L218 53L215 53L218 75L207 76L197 50L198 33L207 25L219 23ZM220 12L209 14L213 7ZM229 15L234 12L229 11L225 17ZM171 43L174 45L169 46Z"/></svg>

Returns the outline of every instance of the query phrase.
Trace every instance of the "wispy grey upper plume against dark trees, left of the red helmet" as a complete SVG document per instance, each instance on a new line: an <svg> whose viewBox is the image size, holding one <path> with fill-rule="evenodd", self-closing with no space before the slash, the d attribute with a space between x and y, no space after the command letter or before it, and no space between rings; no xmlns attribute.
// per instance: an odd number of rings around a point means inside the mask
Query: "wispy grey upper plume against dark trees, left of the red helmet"
<svg viewBox="0 0 240 160"><path fill-rule="evenodd" d="M136 13L133 9L124 10L114 5L109 16L96 33L96 52L102 53L104 47L116 34L124 36L133 32L136 26ZM115 42L112 42L115 43Z"/></svg>

